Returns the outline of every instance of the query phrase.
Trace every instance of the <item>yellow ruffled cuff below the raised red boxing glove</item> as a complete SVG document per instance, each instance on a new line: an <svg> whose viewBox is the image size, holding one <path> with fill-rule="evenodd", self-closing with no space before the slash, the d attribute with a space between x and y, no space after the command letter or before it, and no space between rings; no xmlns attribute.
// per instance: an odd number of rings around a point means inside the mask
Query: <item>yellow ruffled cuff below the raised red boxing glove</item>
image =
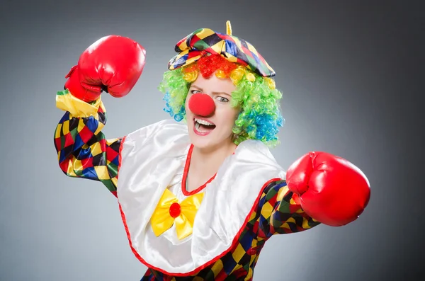
<svg viewBox="0 0 425 281"><path fill-rule="evenodd" d="M72 96L68 90L58 91L56 94L56 107L69 111L74 117L89 117L98 112L102 101L99 97L96 101L86 103L79 98Z"/></svg>

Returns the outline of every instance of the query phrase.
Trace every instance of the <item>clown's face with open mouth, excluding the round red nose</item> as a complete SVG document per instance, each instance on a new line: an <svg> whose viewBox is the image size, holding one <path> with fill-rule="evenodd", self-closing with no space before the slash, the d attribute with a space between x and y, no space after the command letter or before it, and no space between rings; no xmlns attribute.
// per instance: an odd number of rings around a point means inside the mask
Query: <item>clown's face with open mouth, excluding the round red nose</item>
<svg viewBox="0 0 425 281"><path fill-rule="evenodd" d="M236 86L232 80L217 78L215 74L212 74L210 78L198 75L196 81L193 81L185 107L188 133L194 147L213 151L234 145L232 128L239 115L239 108L233 108L230 105L234 90ZM191 111L189 100L196 93L205 93L212 98L215 110L210 115L201 116Z"/></svg>

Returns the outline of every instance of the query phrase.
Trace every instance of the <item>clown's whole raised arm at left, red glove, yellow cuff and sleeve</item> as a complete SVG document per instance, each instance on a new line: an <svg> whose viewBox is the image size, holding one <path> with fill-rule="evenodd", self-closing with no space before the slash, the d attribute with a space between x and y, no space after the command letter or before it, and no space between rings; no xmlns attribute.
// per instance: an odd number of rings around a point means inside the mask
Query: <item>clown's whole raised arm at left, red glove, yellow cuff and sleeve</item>
<svg viewBox="0 0 425 281"><path fill-rule="evenodd" d="M106 110L101 92L125 96L142 74L145 50L130 38L107 36L96 41L72 67L56 104L66 113L55 130L55 147L67 176L99 180L116 196L122 139L101 132Z"/></svg>

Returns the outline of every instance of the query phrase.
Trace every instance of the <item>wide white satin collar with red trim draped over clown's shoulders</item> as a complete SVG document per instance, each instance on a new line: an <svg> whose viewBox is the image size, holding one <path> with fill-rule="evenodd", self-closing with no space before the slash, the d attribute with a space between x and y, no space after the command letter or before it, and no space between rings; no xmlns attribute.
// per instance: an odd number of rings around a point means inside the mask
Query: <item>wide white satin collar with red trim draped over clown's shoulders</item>
<svg viewBox="0 0 425 281"><path fill-rule="evenodd" d="M285 178L262 142L242 142L201 191L193 233L182 240L157 237L149 220L164 190L182 175L190 146L187 125L164 120L128 134L120 148L118 202L130 246L147 267L166 274L196 273L230 251L265 183Z"/></svg>

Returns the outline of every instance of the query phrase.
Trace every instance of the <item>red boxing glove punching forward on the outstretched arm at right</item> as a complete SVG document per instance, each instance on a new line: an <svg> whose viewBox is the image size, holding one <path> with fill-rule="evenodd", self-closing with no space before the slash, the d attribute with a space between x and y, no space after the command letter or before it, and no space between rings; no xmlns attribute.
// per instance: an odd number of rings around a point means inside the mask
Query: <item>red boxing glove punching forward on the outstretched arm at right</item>
<svg viewBox="0 0 425 281"><path fill-rule="evenodd" d="M370 185L363 172L326 152L310 152L286 173L288 188L300 196L302 209L330 226L353 222L368 205Z"/></svg>

